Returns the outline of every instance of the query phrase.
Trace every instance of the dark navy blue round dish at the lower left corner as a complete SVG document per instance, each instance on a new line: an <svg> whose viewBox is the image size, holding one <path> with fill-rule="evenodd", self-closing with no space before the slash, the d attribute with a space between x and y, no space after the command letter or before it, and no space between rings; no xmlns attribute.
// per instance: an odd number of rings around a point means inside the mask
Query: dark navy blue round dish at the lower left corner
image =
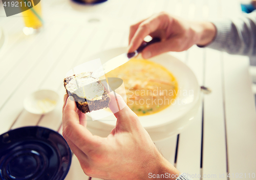
<svg viewBox="0 0 256 180"><path fill-rule="evenodd" d="M71 158L65 139L49 128L21 127L0 135L3 180L63 180Z"/></svg>

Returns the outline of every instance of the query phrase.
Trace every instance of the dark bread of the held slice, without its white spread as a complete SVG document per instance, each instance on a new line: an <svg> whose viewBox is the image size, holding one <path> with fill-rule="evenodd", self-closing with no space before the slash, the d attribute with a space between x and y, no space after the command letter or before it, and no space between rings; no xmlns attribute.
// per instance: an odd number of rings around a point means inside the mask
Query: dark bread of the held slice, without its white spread
<svg viewBox="0 0 256 180"><path fill-rule="evenodd" d="M70 80L72 78L74 78L74 76L75 76L75 74L64 79L64 87L66 89L66 92L69 95L74 97L74 99L76 101L76 106L82 113L88 113L88 112L100 110L103 108L109 108L111 97L106 92L106 90L104 90L102 98L99 100L88 100L85 98L81 98L81 97L77 96L76 94L68 91L66 88L66 85L70 82ZM100 80L97 83L101 83ZM89 109L89 107L90 107L90 109Z"/></svg>

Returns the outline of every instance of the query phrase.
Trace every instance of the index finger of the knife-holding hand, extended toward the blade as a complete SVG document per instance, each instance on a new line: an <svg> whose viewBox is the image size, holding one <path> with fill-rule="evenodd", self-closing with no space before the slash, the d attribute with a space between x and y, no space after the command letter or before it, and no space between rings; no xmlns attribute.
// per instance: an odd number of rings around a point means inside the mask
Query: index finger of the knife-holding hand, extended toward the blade
<svg viewBox="0 0 256 180"><path fill-rule="evenodd" d="M134 52L143 42L143 39L155 32L158 29L165 29L168 27L170 17L165 13L153 15L145 21L141 22L137 28L136 33L131 39L128 52Z"/></svg>

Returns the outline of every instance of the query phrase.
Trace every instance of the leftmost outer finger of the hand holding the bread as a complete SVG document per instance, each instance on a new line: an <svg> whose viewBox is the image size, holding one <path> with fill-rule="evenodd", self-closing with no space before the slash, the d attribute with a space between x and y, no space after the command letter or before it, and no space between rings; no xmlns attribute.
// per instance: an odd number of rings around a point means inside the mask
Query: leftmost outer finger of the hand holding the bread
<svg viewBox="0 0 256 180"><path fill-rule="evenodd" d="M86 127L80 124L79 115L76 112L76 103L72 96L69 96L63 110L62 123L63 137L68 138L84 153L91 151L99 143L99 138L93 136Z"/></svg>

